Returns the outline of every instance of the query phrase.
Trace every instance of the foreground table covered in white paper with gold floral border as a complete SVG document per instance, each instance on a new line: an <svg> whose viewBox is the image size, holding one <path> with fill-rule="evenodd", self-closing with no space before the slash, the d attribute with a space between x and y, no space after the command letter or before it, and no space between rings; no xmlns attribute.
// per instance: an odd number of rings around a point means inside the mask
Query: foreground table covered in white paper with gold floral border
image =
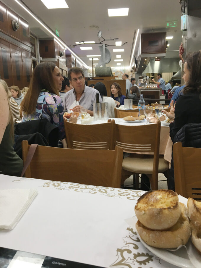
<svg viewBox="0 0 201 268"><path fill-rule="evenodd" d="M0 174L0 196L9 189L38 194L12 230L0 230L1 268L177 267L148 250L128 224L145 191Z"/></svg>

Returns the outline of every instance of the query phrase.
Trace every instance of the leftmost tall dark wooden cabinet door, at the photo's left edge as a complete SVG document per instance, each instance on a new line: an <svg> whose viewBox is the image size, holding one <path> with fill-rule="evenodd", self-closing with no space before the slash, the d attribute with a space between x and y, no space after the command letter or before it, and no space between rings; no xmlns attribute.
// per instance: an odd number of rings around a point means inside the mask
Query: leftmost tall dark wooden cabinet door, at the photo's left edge
<svg viewBox="0 0 201 268"><path fill-rule="evenodd" d="M10 44L0 38L0 75L9 86L12 84Z"/></svg>

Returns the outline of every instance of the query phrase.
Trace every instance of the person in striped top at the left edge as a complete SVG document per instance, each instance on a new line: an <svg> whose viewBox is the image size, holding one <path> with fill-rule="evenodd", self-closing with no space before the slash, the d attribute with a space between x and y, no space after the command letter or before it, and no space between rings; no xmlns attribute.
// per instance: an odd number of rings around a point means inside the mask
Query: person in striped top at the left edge
<svg viewBox="0 0 201 268"><path fill-rule="evenodd" d="M3 88L5 89L6 94L8 96L9 105L10 105L10 109L12 112L13 122L14 123L21 122L19 107L18 107L16 101L14 101L14 99L11 98L11 93L9 91L7 83L2 79L0 79L0 83L3 86Z"/></svg>

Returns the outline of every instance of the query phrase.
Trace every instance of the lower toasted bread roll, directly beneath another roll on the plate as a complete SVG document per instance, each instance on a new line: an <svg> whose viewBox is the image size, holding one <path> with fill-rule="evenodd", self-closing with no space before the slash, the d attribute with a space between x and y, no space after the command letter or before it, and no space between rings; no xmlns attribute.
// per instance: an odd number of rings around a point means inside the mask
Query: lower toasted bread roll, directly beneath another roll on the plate
<svg viewBox="0 0 201 268"><path fill-rule="evenodd" d="M138 220L136 229L145 243L155 248L176 248L185 245L191 235L186 206L181 204L181 214L175 225L165 231L150 230Z"/></svg>

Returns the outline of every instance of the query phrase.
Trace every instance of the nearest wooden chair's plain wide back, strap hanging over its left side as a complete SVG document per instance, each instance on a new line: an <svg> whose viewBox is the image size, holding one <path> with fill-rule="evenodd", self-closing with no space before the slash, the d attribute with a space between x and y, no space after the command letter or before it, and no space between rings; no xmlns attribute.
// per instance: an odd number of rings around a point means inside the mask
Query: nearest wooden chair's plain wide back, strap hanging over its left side
<svg viewBox="0 0 201 268"><path fill-rule="evenodd" d="M29 148L28 141L22 141L23 164ZM25 177L120 188L122 159L119 146L115 150L38 146Z"/></svg>

